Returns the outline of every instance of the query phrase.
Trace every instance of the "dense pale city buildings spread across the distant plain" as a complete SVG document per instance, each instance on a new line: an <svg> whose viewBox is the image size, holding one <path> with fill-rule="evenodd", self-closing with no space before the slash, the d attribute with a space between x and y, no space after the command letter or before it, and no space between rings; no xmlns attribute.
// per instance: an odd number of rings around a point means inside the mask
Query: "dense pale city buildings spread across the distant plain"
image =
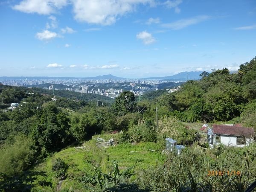
<svg viewBox="0 0 256 192"><path fill-rule="evenodd" d="M111 76L113 79L86 79L86 78L54 78L54 77L0 77L3 85L16 87L40 87L45 90L69 90L79 93L93 93L112 99L119 96L125 90L141 96L146 91L158 90L159 84L166 82L182 83L184 80L168 81L161 79L124 79ZM108 85L108 86L107 86ZM171 93L177 90L178 86L167 87Z"/></svg>

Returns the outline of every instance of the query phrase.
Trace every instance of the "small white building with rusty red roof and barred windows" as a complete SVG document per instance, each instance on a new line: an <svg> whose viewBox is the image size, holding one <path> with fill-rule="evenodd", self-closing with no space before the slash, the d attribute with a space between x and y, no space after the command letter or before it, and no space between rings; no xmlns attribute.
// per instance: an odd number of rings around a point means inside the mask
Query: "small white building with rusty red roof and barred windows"
<svg viewBox="0 0 256 192"><path fill-rule="evenodd" d="M244 147L250 143L255 143L256 134L253 128L230 126L230 125L212 125L213 144L220 143L228 146Z"/></svg>

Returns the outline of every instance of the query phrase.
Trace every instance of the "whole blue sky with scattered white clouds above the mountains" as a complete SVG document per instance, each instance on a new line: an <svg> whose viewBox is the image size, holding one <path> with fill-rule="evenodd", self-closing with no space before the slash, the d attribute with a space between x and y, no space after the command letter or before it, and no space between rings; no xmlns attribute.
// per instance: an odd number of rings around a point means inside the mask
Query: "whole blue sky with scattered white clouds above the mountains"
<svg viewBox="0 0 256 192"><path fill-rule="evenodd" d="M255 56L256 0L0 1L0 76L169 76Z"/></svg>

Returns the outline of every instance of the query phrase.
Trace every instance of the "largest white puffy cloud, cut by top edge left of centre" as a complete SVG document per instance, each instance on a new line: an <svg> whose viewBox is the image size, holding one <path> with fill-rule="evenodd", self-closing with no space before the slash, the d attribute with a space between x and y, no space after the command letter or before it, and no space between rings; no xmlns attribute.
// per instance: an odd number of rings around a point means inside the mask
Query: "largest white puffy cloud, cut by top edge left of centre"
<svg viewBox="0 0 256 192"><path fill-rule="evenodd" d="M154 0L73 0L75 19L81 22L111 25L133 12L136 5L151 4Z"/></svg>

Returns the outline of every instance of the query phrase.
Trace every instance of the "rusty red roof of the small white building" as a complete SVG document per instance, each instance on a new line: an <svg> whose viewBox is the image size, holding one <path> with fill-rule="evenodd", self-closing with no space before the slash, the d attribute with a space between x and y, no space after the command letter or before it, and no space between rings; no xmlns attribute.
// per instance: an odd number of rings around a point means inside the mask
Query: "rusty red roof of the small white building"
<svg viewBox="0 0 256 192"><path fill-rule="evenodd" d="M253 128L238 127L229 125L212 125L214 134L236 135L245 137L255 137L256 134Z"/></svg>

